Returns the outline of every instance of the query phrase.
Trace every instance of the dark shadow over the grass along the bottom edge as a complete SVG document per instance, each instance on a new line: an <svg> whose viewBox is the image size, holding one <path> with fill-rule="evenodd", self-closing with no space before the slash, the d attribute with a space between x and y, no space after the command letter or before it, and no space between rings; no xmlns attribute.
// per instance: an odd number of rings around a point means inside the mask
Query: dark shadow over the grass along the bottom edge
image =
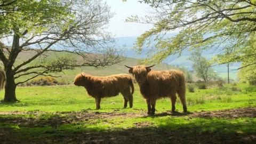
<svg viewBox="0 0 256 144"><path fill-rule="evenodd" d="M163 120L164 121L164 120ZM209 121L180 125L163 123L151 127L131 127L129 129L90 126L89 124L64 124L58 128L22 127L17 124L0 123L1 143L254 143L256 133L252 125L232 124L228 121ZM250 129L242 133L238 128ZM207 129L204 130L204 127ZM211 130L211 127L218 127ZM240 132L223 132L227 127L235 127Z"/></svg>

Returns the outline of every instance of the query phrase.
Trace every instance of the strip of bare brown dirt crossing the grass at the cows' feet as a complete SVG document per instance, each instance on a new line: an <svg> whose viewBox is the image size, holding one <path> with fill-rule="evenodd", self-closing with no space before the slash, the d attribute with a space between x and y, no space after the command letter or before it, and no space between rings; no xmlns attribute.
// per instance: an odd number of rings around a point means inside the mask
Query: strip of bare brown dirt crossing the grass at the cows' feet
<svg viewBox="0 0 256 144"><path fill-rule="evenodd" d="M13 115L10 117L1 117L1 115ZM15 115L31 115L32 117L22 117ZM60 125L77 123L79 121L89 121L90 119L110 119L115 117L147 117L146 113L118 113L114 111L112 113L100 113L100 112L88 112L88 111L69 111L69 112L57 112L57 113L46 113L43 111L0 111L0 122L21 124L29 127L44 126L44 125ZM229 110L218 110L218 111L201 111L193 113L161 113L156 114L153 117L159 116L189 116L189 117L200 117L200 118L239 118L239 117L256 117L256 108L238 108ZM137 123L139 127L145 127L150 125L148 123Z"/></svg>

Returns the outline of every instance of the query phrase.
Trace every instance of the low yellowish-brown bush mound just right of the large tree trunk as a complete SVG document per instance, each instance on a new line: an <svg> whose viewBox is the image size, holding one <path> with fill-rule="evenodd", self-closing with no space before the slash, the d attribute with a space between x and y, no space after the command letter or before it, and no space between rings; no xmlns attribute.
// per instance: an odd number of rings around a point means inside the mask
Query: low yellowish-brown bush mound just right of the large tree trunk
<svg viewBox="0 0 256 144"><path fill-rule="evenodd" d="M45 85L66 85L67 83L64 81L57 81L57 79L46 76L46 77L37 77L32 81L20 84L19 86L45 86Z"/></svg>

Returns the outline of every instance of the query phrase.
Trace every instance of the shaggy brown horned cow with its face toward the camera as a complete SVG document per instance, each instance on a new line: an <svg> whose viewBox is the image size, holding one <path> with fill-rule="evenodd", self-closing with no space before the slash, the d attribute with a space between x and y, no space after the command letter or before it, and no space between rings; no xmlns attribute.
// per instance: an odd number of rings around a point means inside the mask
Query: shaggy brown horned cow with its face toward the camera
<svg viewBox="0 0 256 144"><path fill-rule="evenodd" d="M140 87L140 93L147 101L148 114L155 114L156 100L165 97L171 98L172 111L174 112L176 93L178 93L183 105L183 111L186 112L184 74L179 70L154 71L150 69L153 66L126 66L130 68L129 73L135 77Z"/></svg>

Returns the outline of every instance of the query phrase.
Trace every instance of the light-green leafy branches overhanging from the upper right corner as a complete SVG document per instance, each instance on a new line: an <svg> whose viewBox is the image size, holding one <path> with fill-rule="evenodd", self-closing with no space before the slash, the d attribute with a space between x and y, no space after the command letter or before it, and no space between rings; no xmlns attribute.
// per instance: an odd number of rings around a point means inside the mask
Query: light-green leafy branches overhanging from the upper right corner
<svg viewBox="0 0 256 144"><path fill-rule="evenodd" d="M144 45L154 45L149 51L149 63L161 62L169 55L181 53L185 49L207 47L216 49L219 63L243 61L256 56L256 53L243 51L255 37L256 1L183 1L183 0L142 0L154 11L144 18L133 15L130 22L151 23L153 28L137 38L136 48L142 51ZM174 36L169 31L179 31ZM225 54L230 49L233 53ZM250 51L250 49L247 49ZM237 55L237 57L230 57ZM247 63L254 65L255 60Z"/></svg>

